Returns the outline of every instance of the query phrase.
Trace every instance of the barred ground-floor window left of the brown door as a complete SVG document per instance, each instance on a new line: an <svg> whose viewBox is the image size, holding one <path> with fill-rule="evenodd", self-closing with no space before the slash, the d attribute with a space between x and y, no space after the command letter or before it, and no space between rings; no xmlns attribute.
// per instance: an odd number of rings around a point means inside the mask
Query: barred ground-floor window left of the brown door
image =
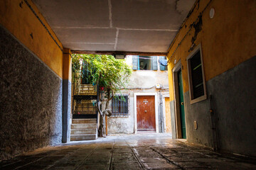
<svg viewBox="0 0 256 170"><path fill-rule="evenodd" d="M128 94L116 94L112 99L112 117L127 117L128 111Z"/></svg>

